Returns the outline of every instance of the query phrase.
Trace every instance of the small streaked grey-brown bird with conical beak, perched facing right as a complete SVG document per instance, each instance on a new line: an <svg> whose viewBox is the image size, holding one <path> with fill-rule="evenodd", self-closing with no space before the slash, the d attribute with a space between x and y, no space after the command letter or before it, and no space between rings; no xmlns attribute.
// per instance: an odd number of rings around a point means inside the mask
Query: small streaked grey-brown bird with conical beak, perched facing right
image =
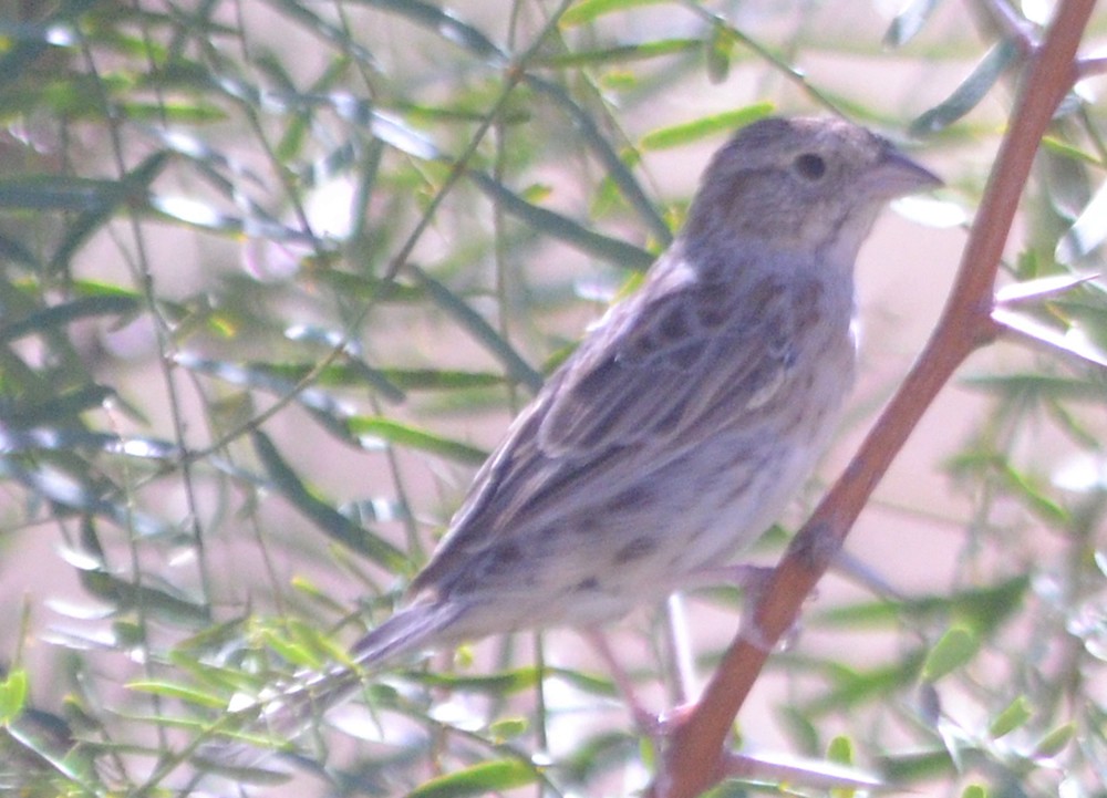
<svg viewBox="0 0 1107 798"><path fill-rule="evenodd" d="M837 117L737 131L640 288L476 474L406 605L352 646L355 667L280 693L269 718L325 711L359 673L423 650L601 628L751 546L809 475L853 383L858 250L890 200L939 185Z"/></svg>

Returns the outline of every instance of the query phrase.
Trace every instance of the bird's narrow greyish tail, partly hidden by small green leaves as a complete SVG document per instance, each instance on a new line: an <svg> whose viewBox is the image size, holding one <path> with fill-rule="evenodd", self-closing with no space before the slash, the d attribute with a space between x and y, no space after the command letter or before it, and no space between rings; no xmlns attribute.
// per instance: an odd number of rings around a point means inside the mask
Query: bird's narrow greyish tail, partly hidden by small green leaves
<svg viewBox="0 0 1107 798"><path fill-rule="evenodd" d="M293 684L273 695L231 711L256 713L256 721L247 724L248 729L273 739L291 739L306 730L313 719L352 697L366 671L379 670L403 654L453 640L453 635L446 636L444 632L464 609L454 602L442 602L401 610L354 643L350 657L355 667L335 666L301 674ZM234 743L205 744L197 754L204 764L217 768L254 767L268 757L268 752Z"/></svg>

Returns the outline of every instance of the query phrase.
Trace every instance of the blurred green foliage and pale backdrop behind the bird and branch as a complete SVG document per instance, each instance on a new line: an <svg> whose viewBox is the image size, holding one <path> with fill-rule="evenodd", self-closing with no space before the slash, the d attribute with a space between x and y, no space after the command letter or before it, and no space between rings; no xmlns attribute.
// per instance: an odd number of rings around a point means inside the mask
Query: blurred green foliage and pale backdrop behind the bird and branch
<svg viewBox="0 0 1107 798"><path fill-rule="evenodd" d="M775 562L941 312L1024 65L1013 34L1052 6L0 8L0 786L425 796L623 795L654 763L561 630L374 675L249 768L193 755L249 730L230 702L387 616L514 414L679 229L711 153L770 113L834 113L946 186L862 250L860 382L751 555ZM1101 90L1057 115L1005 283L1103 270ZM1101 280L1018 311L1107 345ZM976 353L735 748L934 795L1107 794L1105 411L1087 360ZM685 605L706 678L741 597ZM660 609L612 630L659 711Z"/></svg>

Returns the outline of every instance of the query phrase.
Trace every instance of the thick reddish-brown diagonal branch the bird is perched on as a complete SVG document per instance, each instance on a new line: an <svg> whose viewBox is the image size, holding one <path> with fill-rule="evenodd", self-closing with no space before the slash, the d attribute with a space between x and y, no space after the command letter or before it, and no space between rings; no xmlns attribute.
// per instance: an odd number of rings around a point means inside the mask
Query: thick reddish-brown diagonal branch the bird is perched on
<svg viewBox="0 0 1107 798"><path fill-rule="evenodd" d="M961 259L949 302L929 343L845 474L796 536L755 611L761 645L737 638L694 712L669 739L650 795L694 798L725 775L724 743L767 654L798 618L877 483L945 382L996 336L995 278L1038 143L1078 77L1077 48L1094 0L1064 0L1042 45L1031 52L1006 136Z"/></svg>

